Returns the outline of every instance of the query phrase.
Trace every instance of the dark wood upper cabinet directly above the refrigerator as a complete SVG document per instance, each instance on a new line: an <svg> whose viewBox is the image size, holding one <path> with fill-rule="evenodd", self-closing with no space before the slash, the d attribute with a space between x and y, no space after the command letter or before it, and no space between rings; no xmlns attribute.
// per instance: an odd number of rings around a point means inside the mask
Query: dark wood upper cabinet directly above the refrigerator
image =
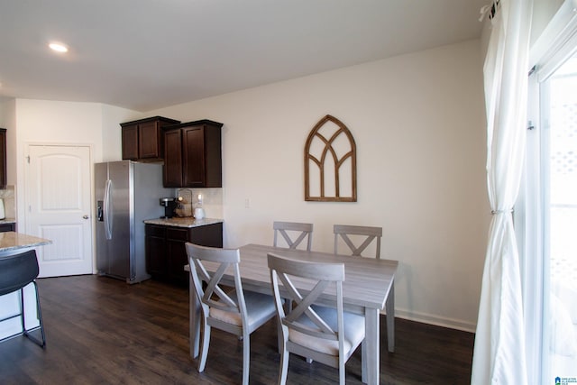
<svg viewBox="0 0 577 385"><path fill-rule="evenodd" d="M162 127L180 121L153 116L120 124L122 127L123 159L156 161L164 158Z"/></svg>

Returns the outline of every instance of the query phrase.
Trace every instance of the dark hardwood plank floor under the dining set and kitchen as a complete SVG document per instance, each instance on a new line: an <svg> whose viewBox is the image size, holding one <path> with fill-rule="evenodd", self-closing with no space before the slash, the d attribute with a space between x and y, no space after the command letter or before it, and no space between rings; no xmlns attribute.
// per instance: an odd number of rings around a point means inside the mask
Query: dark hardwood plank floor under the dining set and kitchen
<svg viewBox="0 0 577 385"><path fill-rule="evenodd" d="M0 344L0 384L238 384L243 344L213 330L206 370L188 354L188 289L147 280L127 285L96 276L41 279L47 346L23 336ZM388 353L381 318L380 383L468 384L473 335L396 320ZM276 383L279 353L270 321L251 339L251 383ZM360 384L361 352L346 366ZM289 384L338 382L338 370L291 355Z"/></svg>

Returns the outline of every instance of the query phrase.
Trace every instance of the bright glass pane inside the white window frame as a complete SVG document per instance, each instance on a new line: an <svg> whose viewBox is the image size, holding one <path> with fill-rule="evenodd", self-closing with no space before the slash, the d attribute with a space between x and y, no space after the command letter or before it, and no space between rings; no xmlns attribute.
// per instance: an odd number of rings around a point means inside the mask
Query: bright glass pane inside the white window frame
<svg viewBox="0 0 577 385"><path fill-rule="evenodd" d="M577 55L542 83L541 100L546 315L542 365L547 379L563 379L577 376Z"/></svg>

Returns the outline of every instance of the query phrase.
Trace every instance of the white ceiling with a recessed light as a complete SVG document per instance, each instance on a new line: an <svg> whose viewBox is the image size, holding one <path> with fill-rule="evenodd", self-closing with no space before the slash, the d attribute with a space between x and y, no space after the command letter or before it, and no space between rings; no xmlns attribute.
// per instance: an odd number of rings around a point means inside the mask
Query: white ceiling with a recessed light
<svg viewBox="0 0 577 385"><path fill-rule="evenodd" d="M0 0L0 96L149 111L477 39L486 3Z"/></svg>

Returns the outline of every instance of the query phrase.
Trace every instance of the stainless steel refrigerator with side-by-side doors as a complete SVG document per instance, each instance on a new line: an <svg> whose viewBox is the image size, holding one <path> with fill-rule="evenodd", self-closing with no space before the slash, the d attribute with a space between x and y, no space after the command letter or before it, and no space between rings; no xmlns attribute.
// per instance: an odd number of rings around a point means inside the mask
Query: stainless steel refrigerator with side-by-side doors
<svg viewBox="0 0 577 385"><path fill-rule="evenodd" d="M160 218L160 197L174 191L162 187L162 165L131 160L95 164L96 269L99 275L148 280L144 223Z"/></svg>

